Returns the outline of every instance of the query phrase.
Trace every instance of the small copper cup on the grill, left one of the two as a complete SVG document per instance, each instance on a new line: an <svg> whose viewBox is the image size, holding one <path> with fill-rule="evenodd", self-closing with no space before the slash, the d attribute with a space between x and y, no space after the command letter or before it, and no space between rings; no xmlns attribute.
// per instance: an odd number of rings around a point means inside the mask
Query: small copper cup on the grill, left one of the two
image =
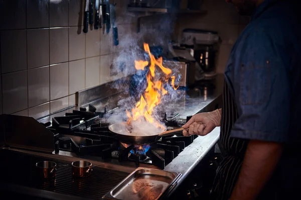
<svg viewBox="0 0 301 200"><path fill-rule="evenodd" d="M52 178L56 174L56 163L53 161L39 161L36 163L37 173L43 178Z"/></svg>

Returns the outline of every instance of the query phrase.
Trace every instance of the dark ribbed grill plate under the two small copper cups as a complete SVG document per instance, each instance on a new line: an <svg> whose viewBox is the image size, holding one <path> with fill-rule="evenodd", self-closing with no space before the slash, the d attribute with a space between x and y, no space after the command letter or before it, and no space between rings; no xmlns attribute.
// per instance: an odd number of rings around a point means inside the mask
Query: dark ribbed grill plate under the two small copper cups
<svg viewBox="0 0 301 200"><path fill-rule="evenodd" d="M3 174L2 180L8 183L90 199L100 199L129 174L107 168L94 167L89 177L73 178L72 167L68 165L57 168L55 178L45 180L39 178L36 174L35 163L37 161L54 161L58 166L68 164L68 162L45 159L14 151L6 151L5 153L0 151L0 155L4 157L4 160L0 162L0 170L7 171Z"/></svg>

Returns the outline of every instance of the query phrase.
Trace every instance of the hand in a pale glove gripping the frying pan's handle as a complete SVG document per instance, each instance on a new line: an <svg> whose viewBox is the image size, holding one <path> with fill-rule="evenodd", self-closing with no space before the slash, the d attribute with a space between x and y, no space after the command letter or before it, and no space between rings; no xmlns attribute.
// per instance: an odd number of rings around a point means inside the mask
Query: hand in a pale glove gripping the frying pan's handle
<svg viewBox="0 0 301 200"><path fill-rule="evenodd" d="M204 136L211 132L216 126L220 126L220 121L221 109L195 114L182 126L183 128L189 128L188 131L183 130L183 135L190 136L192 134L198 134Z"/></svg>

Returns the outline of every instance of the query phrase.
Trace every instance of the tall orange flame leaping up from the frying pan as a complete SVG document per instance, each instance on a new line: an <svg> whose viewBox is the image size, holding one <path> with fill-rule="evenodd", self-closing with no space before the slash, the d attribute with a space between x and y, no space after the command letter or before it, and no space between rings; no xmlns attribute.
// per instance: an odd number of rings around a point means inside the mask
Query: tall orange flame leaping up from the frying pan
<svg viewBox="0 0 301 200"><path fill-rule="evenodd" d="M156 59L155 56L150 53L149 46L147 43L143 44L145 52L148 53L150 61L135 60L135 68L137 70L144 70L148 65L149 71L146 74L147 87L142 93L140 100L136 103L135 107L132 108L131 112L126 110L128 122L130 121L141 121L145 119L147 122L152 123L156 127L164 128L159 120L153 117L154 108L160 104L162 96L168 94L168 91L164 88L164 83L171 80L173 88L176 90L178 87L175 86L176 76L170 76L172 70L163 66L162 57ZM156 76L156 66L158 66L163 72L163 77ZM162 73L157 73L162 74Z"/></svg>

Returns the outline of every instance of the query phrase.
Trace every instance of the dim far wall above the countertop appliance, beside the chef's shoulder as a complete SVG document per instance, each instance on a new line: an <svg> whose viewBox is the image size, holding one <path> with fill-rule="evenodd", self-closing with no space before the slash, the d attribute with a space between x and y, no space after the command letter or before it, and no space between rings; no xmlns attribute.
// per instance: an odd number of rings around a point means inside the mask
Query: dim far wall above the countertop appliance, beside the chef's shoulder
<svg viewBox="0 0 301 200"><path fill-rule="evenodd" d="M232 45L248 24L249 17L240 16L236 8L225 0L204 0L202 9L207 14L186 14L178 18L176 35L181 39L182 30L197 28L218 31L222 43L216 58L216 71L223 73Z"/></svg>

